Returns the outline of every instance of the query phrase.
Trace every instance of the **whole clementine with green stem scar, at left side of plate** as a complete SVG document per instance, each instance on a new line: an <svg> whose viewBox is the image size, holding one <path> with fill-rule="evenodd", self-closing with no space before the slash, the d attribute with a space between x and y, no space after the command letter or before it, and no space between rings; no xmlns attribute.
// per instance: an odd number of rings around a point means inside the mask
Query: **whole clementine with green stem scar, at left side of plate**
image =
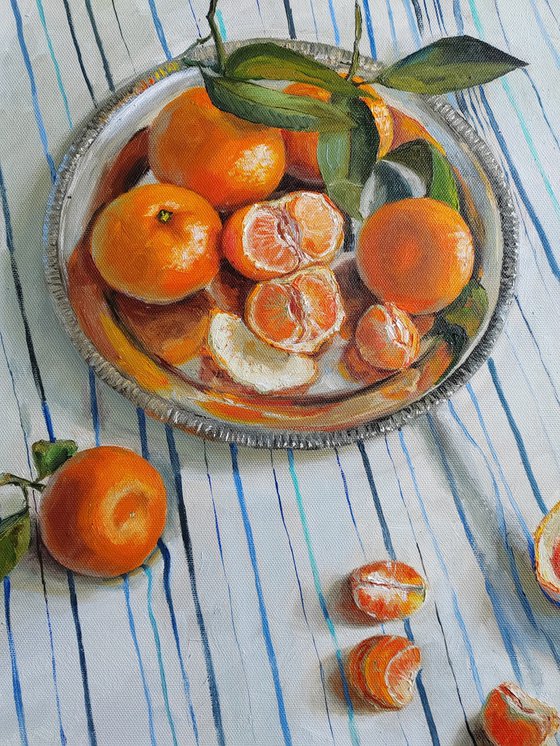
<svg viewBox="0 0 560 746"><path fill-rule="evenodd" d="M204 197L173 184L144 184L103 208L91 255L114 290L146 303L172 303L217 274L221 228Z"/></svg>

